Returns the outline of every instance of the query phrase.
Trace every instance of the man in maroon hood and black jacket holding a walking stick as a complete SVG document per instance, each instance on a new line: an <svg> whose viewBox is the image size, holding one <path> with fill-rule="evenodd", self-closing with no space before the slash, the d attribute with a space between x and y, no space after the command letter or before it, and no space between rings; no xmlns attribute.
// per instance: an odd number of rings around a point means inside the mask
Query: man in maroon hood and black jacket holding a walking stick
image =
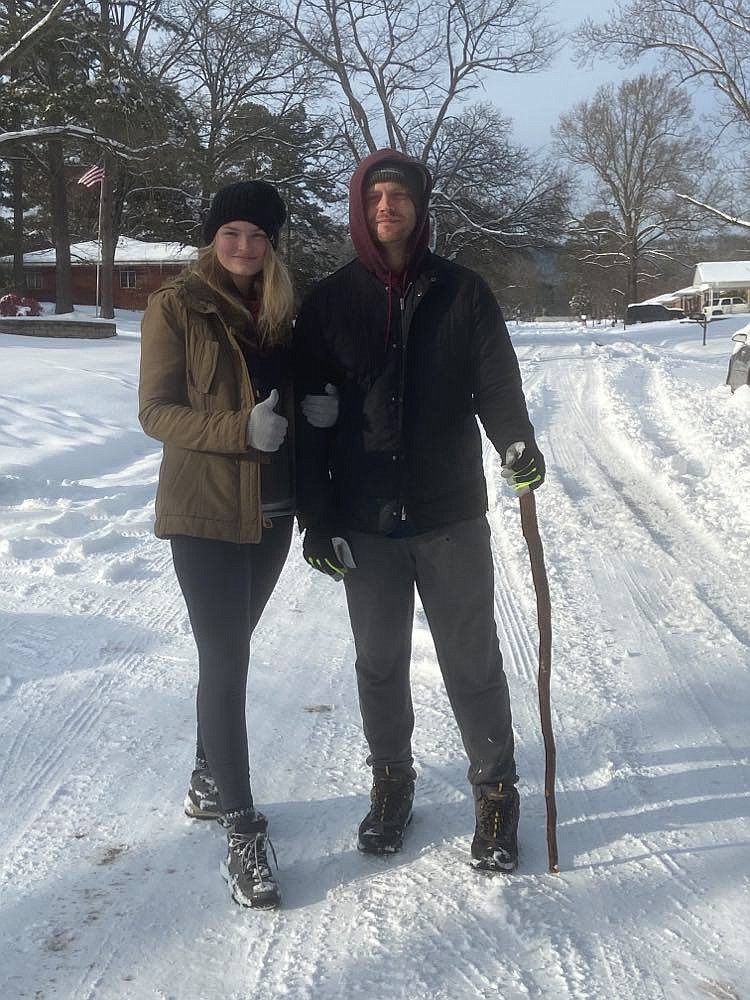
<svg viewBox="0 0 750 1000"><path fill-rule="evenodd" d="M328 383L340 394L334 427L300 421L298 506L305 558L346 587L373 769L360 850L399 850L411 819L416 585L469 758L472 864L509 872L518 778L476 415L517 489L541 485L544 459L494 296L427 249L431 186L394 150L352 177L357 258L316 286L296 324L300 398Z"/></svg>

